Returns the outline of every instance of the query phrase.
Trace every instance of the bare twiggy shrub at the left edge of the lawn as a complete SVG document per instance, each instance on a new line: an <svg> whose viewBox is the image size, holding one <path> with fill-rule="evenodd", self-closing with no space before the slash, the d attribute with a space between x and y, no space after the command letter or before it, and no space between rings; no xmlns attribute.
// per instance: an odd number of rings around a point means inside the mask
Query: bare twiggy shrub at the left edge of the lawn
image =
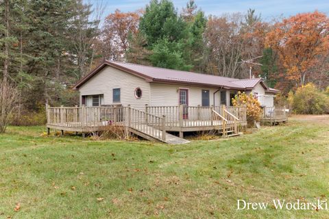
<svg viewBox="0 0 329 219"><path fill-rule="evenodd" d="M0 133L4 133L19 105L19 89L8 80L0 81Z"/></svg>

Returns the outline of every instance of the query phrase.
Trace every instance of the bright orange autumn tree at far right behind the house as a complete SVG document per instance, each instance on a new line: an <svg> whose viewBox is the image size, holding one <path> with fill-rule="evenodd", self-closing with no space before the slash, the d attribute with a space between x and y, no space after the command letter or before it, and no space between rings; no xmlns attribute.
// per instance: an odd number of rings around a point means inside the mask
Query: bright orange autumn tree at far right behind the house
<svg viewBox="0 0 329 219"><path fill-rule="evenodd" d="M329 49L329 19L320 12L297 14L277 23L267 34L266 46L275 50L287 70L286 78L302 86L311 68Z"/></svg>

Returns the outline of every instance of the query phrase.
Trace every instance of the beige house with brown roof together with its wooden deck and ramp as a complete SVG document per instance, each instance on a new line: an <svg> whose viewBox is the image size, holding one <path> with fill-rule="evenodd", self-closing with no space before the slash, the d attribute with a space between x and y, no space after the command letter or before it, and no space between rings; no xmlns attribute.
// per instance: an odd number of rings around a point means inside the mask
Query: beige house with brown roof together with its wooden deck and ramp
<svg viewBox="0 0 329 219"><path fill-rule="evenodd" d="M239 91L254 94L269 107L264 110L269 122L276 122L271 106L278 90L260 78L234 79L105 61L74 89L80 92L80 106L47 105L48 133L59 129L84 136L118 125L128 135L168 144L188 142L184 133L191 131L237 136L247 125L247 107L232 106Z"/></svg>

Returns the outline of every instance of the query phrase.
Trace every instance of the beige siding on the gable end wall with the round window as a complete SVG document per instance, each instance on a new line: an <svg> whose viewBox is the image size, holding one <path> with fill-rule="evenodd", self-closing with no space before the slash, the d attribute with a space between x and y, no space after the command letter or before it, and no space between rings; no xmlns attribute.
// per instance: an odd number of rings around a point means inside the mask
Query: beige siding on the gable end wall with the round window
<svg viewBox="0 0 329 219"><path fill-rule="evenodd" d="M80 103L82 95L103 94L105 105L113 104L112 89L120 88L120 103L124 106L130 104L140 110L145 109L145 104L149 104L149 83L140 77L125 73L111 66L106 66L90 78L80 88ZM134 94L136 88L141 88L142 97L136 99ZM117 104L115 102L114 104Z"/></svg>

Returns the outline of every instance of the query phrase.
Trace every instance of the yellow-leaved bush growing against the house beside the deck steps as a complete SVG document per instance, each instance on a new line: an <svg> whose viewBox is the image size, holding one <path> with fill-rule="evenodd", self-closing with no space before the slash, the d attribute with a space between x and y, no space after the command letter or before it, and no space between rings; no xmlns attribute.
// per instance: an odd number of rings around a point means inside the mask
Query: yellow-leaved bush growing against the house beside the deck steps
<svg viewBox="0 0 329 219"><path fill-rule="evenodd" d="M252 94L247 95L245 92L239 92L232 99L232 104L234 106L243 106L247 107L247 125L250 127L254 125L254 122L259 122L262 118L262 107L257 99L254 98Z"/></svg>

